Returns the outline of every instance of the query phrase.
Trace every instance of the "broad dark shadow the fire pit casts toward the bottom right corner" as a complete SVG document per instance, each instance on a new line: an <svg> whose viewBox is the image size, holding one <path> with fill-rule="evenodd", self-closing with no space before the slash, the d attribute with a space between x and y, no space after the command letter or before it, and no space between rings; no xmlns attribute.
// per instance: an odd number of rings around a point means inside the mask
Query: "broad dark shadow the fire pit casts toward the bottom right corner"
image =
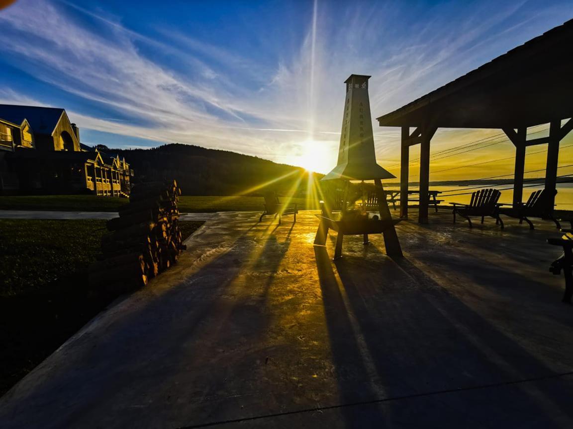
<svg viewBox="0 0 573 429"><path fill-rule="evenodd" d="M393 261L380 255L380 259L376 273L368 272L370 267L356 257L337 261L336 268L388 396L493 386L555 374L407 258ZM414 419L417 424L442 421L446 427L459 424L461 416L451 414L452 410L468 407L472 413L479 410L473 421L465 422L468 426L492 422L511 426L516 415L522 423L552 422L560 414L573 418L569 389L557 379L539 389L542 399L517 389L511 398L494 395L502 403L487 398L487 393L476 403L453 395L446 402L437 400L423 415L408 415L399 403L391 412L398 419Z"/></svg>

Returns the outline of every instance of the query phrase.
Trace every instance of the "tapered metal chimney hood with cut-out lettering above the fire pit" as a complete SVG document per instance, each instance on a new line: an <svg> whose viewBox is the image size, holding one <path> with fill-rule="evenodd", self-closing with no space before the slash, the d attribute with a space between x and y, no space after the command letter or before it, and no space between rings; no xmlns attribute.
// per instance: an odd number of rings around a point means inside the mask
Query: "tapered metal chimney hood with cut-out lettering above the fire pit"
<svg viewBox="0 0 573 429"><path fill-rule="evenodd" d="M351 74L346 84L346 102L338 162L321 180L374 180L394 178L393 174L376 164L368 79L370 76Z"/></svg>

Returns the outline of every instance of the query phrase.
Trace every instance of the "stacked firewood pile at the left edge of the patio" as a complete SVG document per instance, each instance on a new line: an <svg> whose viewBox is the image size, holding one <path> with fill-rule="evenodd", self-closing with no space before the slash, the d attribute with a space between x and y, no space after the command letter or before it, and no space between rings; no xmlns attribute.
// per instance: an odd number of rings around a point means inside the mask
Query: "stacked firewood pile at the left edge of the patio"
<svg viewBox="0 0 573 429"><path fill-rule="evenodd" d="M107 221L101 255L91 265L92 285L128 291L171 267L186 249L179 230L176 181L135 185L119 217Z"/></svg>

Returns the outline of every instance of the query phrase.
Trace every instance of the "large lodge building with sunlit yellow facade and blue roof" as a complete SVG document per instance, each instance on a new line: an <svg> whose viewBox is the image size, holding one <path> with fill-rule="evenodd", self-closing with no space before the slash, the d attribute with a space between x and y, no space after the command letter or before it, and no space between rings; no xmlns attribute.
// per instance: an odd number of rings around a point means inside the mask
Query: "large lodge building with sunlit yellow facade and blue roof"
<svg viewBox="0 0 573 429"><path fill-rule="evenodd" d="M64 109L0 105L0 193L127 196L125 158L80 142Z"/></svg>

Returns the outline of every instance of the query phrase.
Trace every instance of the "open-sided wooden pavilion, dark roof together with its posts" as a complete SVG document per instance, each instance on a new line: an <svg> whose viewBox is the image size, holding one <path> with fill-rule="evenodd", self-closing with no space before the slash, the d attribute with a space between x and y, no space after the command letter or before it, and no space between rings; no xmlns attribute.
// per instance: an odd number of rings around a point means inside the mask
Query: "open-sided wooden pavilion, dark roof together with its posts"
<svg viewBox="0 0 573 429"><path fill-rule="evenodd" d="M410 147L420 145L419 189L425 197L418 221L427 223L430 141L440 127L500 128L507 134L516 148L515 206L523 197L525 148L547 144L545 189L555 190L559 142L573 129L573 58L565 54L572 43L573 19L378 118L380 126L402 128L401 217L408 215ZM549 136L527 140L527 128L540 124L550 124Z"/></svg>

